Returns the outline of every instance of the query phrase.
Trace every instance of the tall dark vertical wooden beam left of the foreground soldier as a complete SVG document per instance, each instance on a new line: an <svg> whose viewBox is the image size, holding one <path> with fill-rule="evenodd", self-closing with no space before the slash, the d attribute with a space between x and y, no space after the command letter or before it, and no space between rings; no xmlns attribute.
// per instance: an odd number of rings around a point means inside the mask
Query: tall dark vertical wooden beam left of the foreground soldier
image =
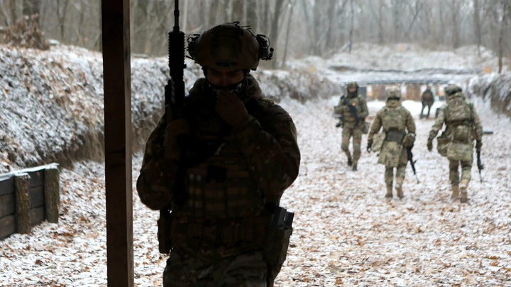
<svg viewBox="0 0 511 287"><path fill-rule="evenodd" d="M134 285L129 2L101 1L109 287Z"/></svg>

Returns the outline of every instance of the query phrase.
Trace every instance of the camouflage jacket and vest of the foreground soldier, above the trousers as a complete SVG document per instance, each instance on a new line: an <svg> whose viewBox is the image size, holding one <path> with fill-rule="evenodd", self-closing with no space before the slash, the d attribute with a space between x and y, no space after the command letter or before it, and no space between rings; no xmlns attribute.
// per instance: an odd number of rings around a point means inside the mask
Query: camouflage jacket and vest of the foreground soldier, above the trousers
<svg viewBox="0 0 511 287"><path fill-rule="evenodd" d="M214 111L216 96L206 79L197 80L189 91L185 118L191 137L183 205L173 201L177 161L164 159L165 115L148 139L137 180L138 195L146 206L154 210L171 206L172 247L209 262L262 248L265 234L257 230L268 225L265 202L278 205L300 167L297 131L290 115L263 98L250 74L238 95L250 120L231 127ZM236 226L246 228L238 232Z"/></svg>

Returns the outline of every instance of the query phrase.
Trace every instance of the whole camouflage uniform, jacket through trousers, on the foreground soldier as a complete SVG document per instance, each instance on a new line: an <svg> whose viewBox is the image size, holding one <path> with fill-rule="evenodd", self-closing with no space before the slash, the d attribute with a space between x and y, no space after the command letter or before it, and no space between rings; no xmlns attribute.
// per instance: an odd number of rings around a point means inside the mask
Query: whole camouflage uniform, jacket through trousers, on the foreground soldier
<svg viewBox="0 0 511 287"><path fill-rule="evenodd" d="M297 132L251 74L236 87L227 93L247 113L236 125L218 110L224 89L202 78L189 91L184 118L167 123L167 109L146 143L138 195L149 208L172 210L169 230L158 228L172 240L163 286L273 286L266 233L272 208L298 175ZM178 136L179 129L187 133ZM178 177L183 156L185 176Z"/></svg>

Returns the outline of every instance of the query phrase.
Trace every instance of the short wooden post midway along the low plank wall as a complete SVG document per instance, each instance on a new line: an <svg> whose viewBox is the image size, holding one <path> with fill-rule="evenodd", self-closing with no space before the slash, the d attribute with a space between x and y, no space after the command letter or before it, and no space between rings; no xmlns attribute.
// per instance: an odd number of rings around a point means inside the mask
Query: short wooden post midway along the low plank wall
<svg viewBox="0 0 511 287"><path fill-rule="evenodd" d="M15 175L16 185L16 215L18 217L18 233L30 233L31 230L31 212L30 197L28 196L28 185L30 176L27 173Z"/></svg>

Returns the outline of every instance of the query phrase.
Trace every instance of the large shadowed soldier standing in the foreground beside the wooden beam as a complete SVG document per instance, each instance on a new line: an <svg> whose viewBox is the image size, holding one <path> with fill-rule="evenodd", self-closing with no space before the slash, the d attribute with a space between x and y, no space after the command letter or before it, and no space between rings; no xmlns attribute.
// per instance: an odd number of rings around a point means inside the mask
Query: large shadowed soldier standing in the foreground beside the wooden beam
<svg viewBox="0 0 511 287"><path fill-rule="evenodd" d="M137 181L146 206L171 211L158 220L172 248L163 286L273 286L292 231L280 197L300 166L292 118L249 74L273 49L237 22L188 42L204 78L150 135Z"/></svg>

